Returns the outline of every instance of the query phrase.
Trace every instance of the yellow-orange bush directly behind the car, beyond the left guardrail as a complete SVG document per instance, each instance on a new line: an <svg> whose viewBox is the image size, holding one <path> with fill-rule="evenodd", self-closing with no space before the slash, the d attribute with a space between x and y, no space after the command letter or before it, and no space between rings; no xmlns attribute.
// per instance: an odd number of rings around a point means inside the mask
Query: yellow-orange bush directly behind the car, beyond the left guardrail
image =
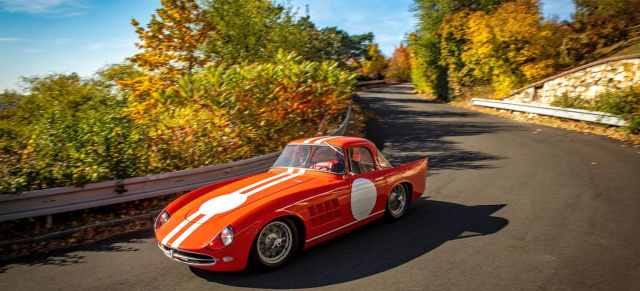
<svg viewBox="0 0 640 291"><path fill-rule="evenodd" d="M184 76L135 107L150 129L156 171L219 164L281 149L314 135L325 116L343 112L356 75L338 63L281 53L272 63L218 65ZM148 103L143 103L148 104Z"/></svg>

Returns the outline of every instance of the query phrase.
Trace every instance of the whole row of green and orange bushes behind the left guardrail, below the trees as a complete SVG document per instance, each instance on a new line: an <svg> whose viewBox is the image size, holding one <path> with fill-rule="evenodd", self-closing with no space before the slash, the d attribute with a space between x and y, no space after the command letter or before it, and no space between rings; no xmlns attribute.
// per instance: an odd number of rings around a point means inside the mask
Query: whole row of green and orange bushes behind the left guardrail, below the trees
<svg viewBox="0 0 640 291"><path fill-rule="evenodd" d="M0 193L185 170L277 151L342 113L356 75L281 53L272 63L218 65L132 98L112 78L25 79L0 100ZM153 102L151 102L153 101Z"/></svg>

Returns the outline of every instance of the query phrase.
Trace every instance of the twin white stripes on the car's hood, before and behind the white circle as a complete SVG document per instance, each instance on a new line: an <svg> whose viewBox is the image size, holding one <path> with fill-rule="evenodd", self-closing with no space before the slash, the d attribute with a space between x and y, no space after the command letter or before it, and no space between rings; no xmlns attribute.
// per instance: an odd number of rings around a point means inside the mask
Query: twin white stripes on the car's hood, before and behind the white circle
<svg viewBox="0 0 640 291"><path fill-rule="evenodd" d="M297 176L300 176L300 175L304 174L304 172L305 172L305 170L298 170L298 173L293 174L293 171L294 171L294 169L289 169L285 173L280 173L280 174L275 175L273 177L270 177L268 179L264 179L264 180L262 180L260 182L251 184L251 185L249 185L247 187L244 187L244 188L242 188L242 189L240 189L238 191L235 191L234 193L226 194L226 195L244 194L246 196L251 196L251 195L253 195L255 193L258 193L258 192L260 192L260 191L262 191L264 189L267 189L269 187L272 187L274 185L282 183L282 182L284 182L286 180L293 179L293 178L295 178ZM293 174L293 175L291 175L291 174ZM284 177L284 178L281 178L281 177ZM281 178L281 179L278 179L278 178ZM262 185L264 183L270 182L270 181L275 180L275 179L278 179L278 180L273 181L273 182L271 182L269 184L263 185L261 187L258 187L256 189L253 189L253 190L251 190L251 191L249 191L247 193L242 193L242 192L244 192L246 190L249 190L249 189L257 187L257 186L260 186L260 185ZM219 197L221 197L221 196L218 196L217 198L219 198ZM216 198L213 198L213 199L216 199ZM231 209L229 209L229 210L231 210ZM225 211L229 211L229 210L225 210ZM196 211L196 213L194 213L193 215L191 215L189 217L189 221L192 221L193 219L195 219L197 217L197 215L200 215L200 214L202 214L200 211ZM189 227L184 233L182 233L182 235L180 235L170 246L174 247L174 248L178 248L180 246L180 244L185 239L187 239L196 229L198 229L198 227L200 227L200 225L204 224L207 220L209 220L211 217L213 217L216 214L218 214L218 213L207 213L205 216L203 216L197 222L195 222L193 225L191 225L191 227ZM171 238L173 236L175 236L182 228L184 228L189 223L189 221L185 220L182 223L180 223L180 225L178 225L178 227L176 227L173 231L171 231L171 233L169 233L169 235L167 235L167 237L165 237L162 240L162 243L167 245L167 242L169 240L171 240Z"/></svg>

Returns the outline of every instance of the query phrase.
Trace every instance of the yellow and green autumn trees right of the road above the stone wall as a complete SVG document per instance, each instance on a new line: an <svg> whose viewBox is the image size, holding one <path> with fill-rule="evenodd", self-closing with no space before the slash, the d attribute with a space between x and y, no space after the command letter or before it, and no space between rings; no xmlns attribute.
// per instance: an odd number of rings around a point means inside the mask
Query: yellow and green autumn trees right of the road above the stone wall
<svg viewBox="0 0 640 291"><path fill-rule="evenodd" d="M443 101L478 91L500 98L559 71L635 51L639 0L574 4L572 19L558 21L542 17L539 0L415 0L411 79L419 92Z"/></svg>

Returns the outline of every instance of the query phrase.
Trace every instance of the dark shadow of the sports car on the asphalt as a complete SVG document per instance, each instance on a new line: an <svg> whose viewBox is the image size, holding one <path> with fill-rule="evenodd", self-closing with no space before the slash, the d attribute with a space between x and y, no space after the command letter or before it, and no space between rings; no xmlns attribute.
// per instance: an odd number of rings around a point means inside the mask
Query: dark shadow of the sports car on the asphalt
<svg viewBox="0 0 640 291"><path fill-rule="evenodd" d="M248 288L315 288L349 282L401 266L448 241L496 233L508 220L492 214L505 206L466 206L420 198L401 220L374 222L300 252L279 270L191 271L210 282Z"/></svg>

